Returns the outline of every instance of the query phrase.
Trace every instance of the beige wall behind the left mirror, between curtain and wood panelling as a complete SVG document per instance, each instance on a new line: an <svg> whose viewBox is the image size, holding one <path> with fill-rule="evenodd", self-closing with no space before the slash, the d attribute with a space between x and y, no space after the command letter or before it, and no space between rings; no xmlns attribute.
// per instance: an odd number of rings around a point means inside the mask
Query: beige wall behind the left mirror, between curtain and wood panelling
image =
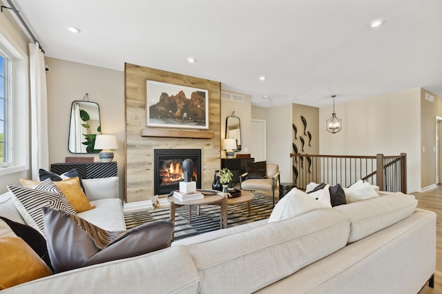
<svg viewBox="0 0 442 294"><path fill-rule="evenodd" d="M45 61L49 68L49 163L64 162L66 156L94 156L99 161L98 154L73 154L68 150L70 106L87 92L89 101L99 105L102 133L117 136L118 149L113 153L118 164L119 196L124 199L124 72L50 57Z"/></svg>

